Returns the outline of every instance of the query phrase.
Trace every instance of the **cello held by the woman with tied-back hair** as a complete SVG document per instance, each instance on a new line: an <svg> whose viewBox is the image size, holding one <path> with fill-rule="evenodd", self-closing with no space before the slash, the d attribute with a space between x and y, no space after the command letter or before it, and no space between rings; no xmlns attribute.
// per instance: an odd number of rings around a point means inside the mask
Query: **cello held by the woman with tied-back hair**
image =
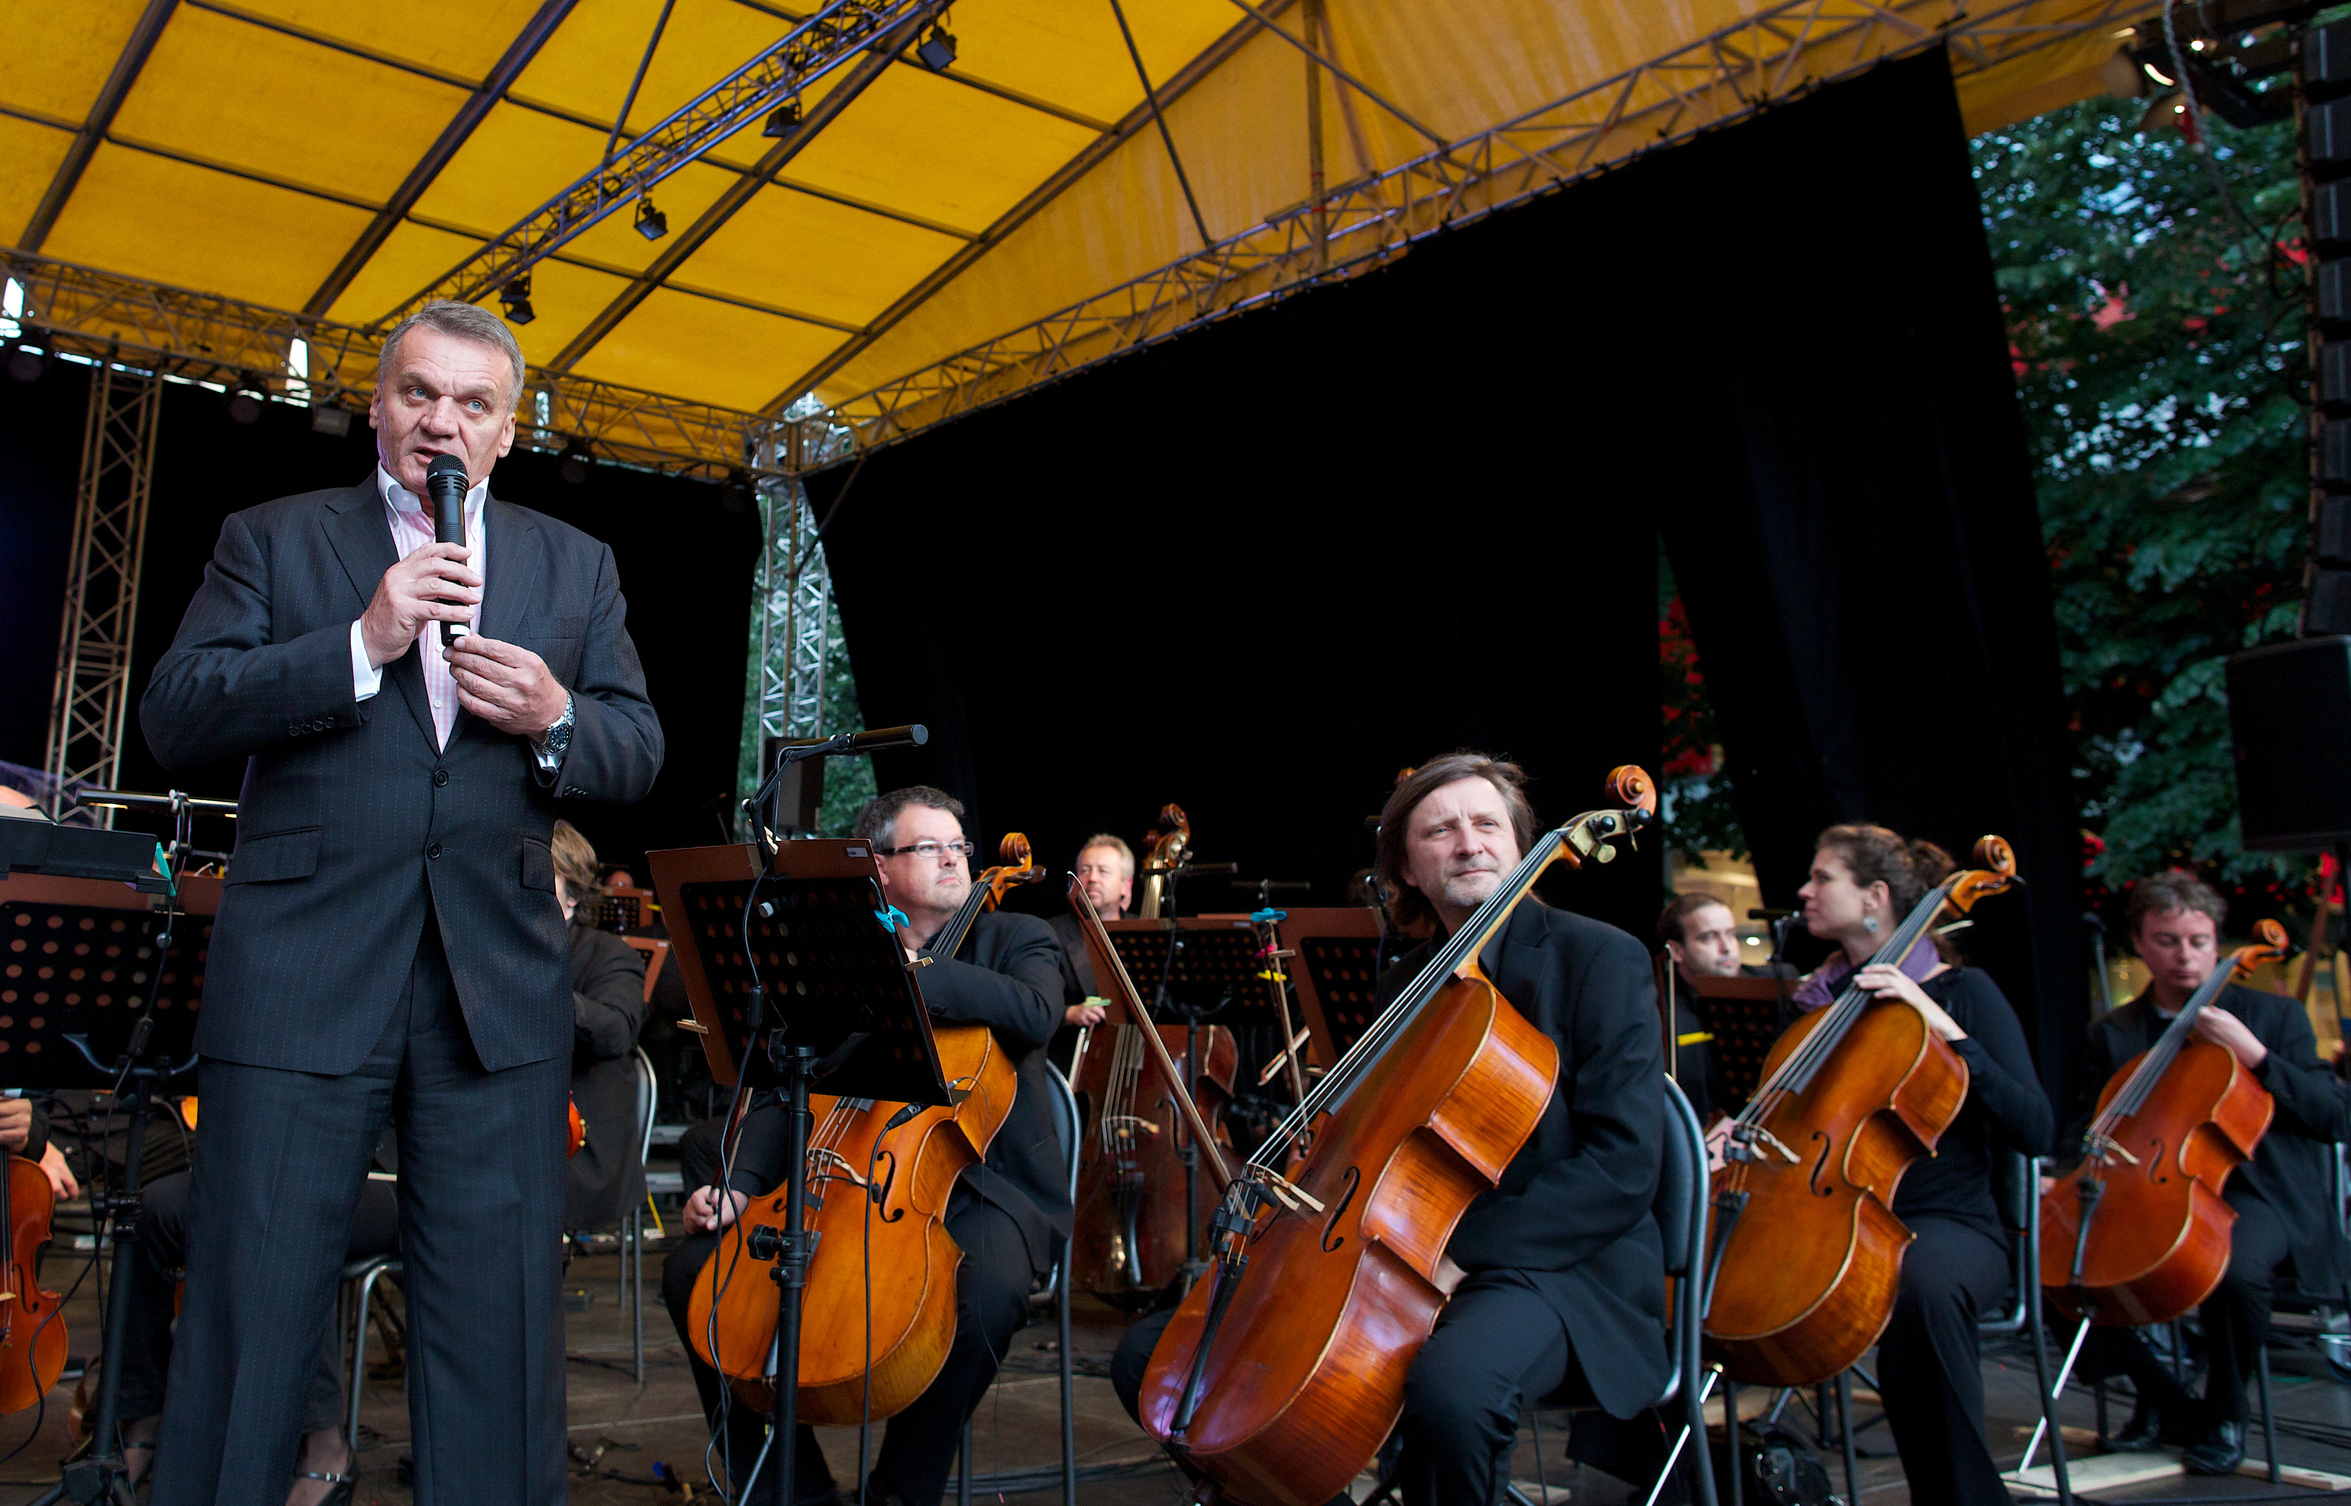
<svg viewBox="0 0 2351 1506"><path fill-rule="evenodd" d="M1963 916L2017 883L2017 855L1998 836L1975 843L1975 862L1911 905L1864 966L1900 966L1933 944L1944 912ZM1848 982L1787 1027L1714 1172L1723 1233L1707 1351L1723 1374L1810 1386L1878 1342L1916 1238L1893 1215L1895 1186L1965 1102L1968 1064L1897 999Z"/></svg>

